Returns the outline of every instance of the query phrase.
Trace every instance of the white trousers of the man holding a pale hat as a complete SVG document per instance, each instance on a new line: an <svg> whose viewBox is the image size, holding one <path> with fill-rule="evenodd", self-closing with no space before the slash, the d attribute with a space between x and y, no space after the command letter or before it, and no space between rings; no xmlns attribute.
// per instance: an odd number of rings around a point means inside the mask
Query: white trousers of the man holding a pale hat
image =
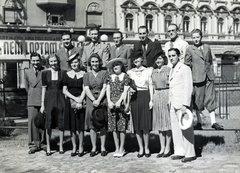
<svg viewBox="0 0 240 173"><path fill-rule="evenodd" d="M174 155L195 157L193 127L182 130L179 126L181 115L180 109L171 106L170 117L172 126L172 137L174 146Z"/></svg>

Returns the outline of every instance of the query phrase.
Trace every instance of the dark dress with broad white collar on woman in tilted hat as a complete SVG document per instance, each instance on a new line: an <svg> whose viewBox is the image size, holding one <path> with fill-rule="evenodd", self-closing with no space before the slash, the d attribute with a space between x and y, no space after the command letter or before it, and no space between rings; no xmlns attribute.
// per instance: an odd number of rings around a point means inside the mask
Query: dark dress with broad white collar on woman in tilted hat
<svg viewBox="0 0 240 173"><path fill-rule="evenodd" d="M75 76L71 78L67 73L64 74L63 83L67 86L68 91L74 96L80 96L83 91L83 77L77 79ZM71 132L83 131L85 124L85 109L74 111L71 108L70 98L66 99L66 113L64 118L65 130Z"/></svg>

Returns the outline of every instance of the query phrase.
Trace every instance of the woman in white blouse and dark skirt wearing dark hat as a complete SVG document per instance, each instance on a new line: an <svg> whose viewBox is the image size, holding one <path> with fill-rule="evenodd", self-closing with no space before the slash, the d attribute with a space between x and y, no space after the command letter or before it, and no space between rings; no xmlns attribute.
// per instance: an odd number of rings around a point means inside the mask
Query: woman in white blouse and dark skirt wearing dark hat
<svg viewBox="0 0 240 173"><path fill-rule="evenodd" d="M131 112L133 128L139 145L137 157L150 157L149 132L152 130L153 84L152 68L146 68L143 63L143 52L136 51L131 55L134 68L127 74L135 82L137 91L132 95Z"/></svg>

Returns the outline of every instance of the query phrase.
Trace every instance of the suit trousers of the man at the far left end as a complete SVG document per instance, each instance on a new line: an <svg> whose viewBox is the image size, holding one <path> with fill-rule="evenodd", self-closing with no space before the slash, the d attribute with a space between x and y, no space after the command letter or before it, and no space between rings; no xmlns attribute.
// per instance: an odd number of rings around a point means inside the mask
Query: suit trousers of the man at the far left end
<svg viewBox="0 0 240 173"><path fill-rule="evenodd" d="M34 124L34 117L39 112L40 106L28 106L28 144L34 142L36 147L40 147L44 140L44 131L38 129Z"/></svg>

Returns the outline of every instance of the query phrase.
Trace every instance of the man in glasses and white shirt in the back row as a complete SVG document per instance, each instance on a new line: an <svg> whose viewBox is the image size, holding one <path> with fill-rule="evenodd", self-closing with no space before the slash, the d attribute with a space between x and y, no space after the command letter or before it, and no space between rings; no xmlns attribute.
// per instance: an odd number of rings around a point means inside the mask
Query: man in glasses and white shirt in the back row
<svg viewBox="0 0 240 173"><path fill-rule="evenodd" d="M178 30L179 30L178 26L174 23L168 26L167 34L170 37L170 41L166 42L164 47L165 47L166 54L170 48L177 48L181 53L180 61L183 63L185 52L188 47L188 43L178 36ZM168 66L169 67L172 66L172 64L169 61L169 58L168 58Z"/></svg>

